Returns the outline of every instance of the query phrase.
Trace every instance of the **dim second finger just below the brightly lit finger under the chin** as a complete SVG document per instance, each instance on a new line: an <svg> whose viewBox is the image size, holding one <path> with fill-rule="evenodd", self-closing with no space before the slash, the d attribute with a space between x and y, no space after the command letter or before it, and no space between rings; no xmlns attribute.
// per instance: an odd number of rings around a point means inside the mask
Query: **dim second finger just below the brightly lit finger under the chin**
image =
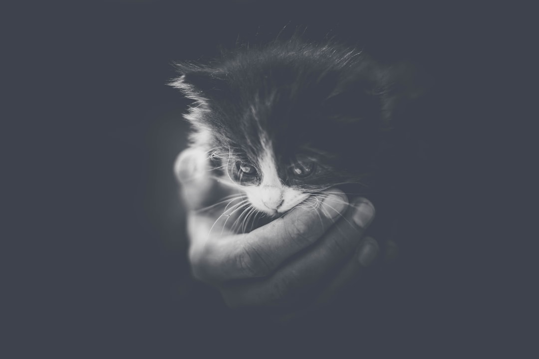
<svg viewBox="0 0 539 359"><path fill-rule="evenodd" d="M224 288L229 306L282 306L302 298L310 288L355 250L375 215L374 206L357 199L346 215L312 248L264 281Z"/></svg>

